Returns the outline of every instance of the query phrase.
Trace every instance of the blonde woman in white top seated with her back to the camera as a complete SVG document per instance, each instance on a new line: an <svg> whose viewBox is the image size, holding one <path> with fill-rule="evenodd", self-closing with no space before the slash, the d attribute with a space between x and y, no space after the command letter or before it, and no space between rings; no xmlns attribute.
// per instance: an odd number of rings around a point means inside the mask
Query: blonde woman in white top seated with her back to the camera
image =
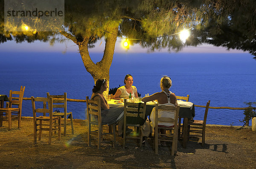
<svg viewBox="0 0 256 169"><path fill-rule="evenodd" d="M162 89L161 92L154 93L150 96L143 97L142 101L153 101L157 100L159 105L172 105L177 107L177 98L174 93L169 91L169 88L172 86L172 80L168 76L163 76L163 78L160 81L160 87ZM151 120L151 127L154 129L155 127L155 108L152 109L151 114L150 114L150 120ZM158 112L158 117L170 117L174 118L174 113L170 112L165 112L165 111L159 111ZM168 124L165 123L159 123L158 125L163 125L163 126L169 126ZM161 129L160 133L165 134L166 130ZM163 143L165 145L165 143Z"/></svg>

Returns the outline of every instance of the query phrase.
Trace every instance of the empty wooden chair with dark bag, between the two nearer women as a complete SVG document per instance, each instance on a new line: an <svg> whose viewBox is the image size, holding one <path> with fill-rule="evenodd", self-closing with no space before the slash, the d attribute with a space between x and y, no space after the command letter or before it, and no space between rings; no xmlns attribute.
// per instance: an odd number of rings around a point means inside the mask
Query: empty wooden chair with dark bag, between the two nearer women
<svg viewBox="0 0 256 169"><path fill-rule="evenodd" d="M141 132L141 126L140 124L131 124L127 121L127 117L134 117L136 118L138 116L138 109L139 109L139 103L128 103L126 99L124 99L125 105L124 105L124 130L123 130L123 148L125 149L126 139L139 139L140 140L140 148L142 146L143 141L143 135ZM144 104L140 105L140 111L139 115L141 118L145 119L145 113L146 113L146 102ZM126 128L128 126L133 126L134 128L138 128L139 131L134 131L130 135L126 135Z"/></svg>

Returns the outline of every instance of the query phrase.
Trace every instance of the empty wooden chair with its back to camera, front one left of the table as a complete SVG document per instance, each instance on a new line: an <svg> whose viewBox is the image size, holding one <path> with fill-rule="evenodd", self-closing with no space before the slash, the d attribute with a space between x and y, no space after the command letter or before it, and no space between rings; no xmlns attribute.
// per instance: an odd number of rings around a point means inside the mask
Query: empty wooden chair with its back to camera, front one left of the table
<svg viewBox="0 0 256 169"><path fill-rule="evenodd" d="M52 132L58 131L58 140L61 140L61 117L52 116L52 98L43 98L43 97L37 97L34 98L31 97L32 101L32 109L33 109L33 121L34 121L34 144L36 144L37 140L37 131L39 131L39 137L38 140L41 140L42 131L49 131L49 141L48 144L51 144L52 139ZM37 103L35 103L37 102ZM48 103L48 109L47 108L36 108L38 107L39 103L41 102L47 102ZM42 104L40 104L42 105ZM49 113L49 116L39 116L37 117L38 113ZM39 121L39 123L38 123ZM38 128L39 126L39 128Z"/></svg>

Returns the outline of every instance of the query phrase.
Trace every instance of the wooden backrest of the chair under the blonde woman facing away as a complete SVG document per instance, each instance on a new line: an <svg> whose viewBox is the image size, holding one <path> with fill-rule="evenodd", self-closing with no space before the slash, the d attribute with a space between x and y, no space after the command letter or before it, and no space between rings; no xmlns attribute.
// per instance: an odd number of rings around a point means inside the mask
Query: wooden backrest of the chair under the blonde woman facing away
<svg viewBox="0 0 256 169"><path fill-rule="evenodd" d="M174 118L158 117L158 111L159 111L159 110L169 111L169 112L171 112L171 113L175 113ZM174 111L175 111L175 112L174 112ZM172 126L171 124L174 124L175 126L177 126L179 111L180 111L180 106L177 106L177 107L169 106L169 105L161 105L161 106L159 106L158 104L156 104L156 107L155 107L155 121L156 121L156 126L157 126L157 124L160 123L160 122L170 123L170 126Z"/></svg>

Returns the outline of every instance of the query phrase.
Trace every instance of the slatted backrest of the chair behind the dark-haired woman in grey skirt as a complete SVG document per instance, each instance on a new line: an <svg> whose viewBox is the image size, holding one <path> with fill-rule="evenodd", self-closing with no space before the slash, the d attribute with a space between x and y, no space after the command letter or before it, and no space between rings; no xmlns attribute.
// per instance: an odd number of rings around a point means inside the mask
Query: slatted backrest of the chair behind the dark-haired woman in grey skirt
<svg viewBox="0 0 256 169"><path fill-rule="evenodd" d="M98 116L98 123L101 124L101 104L100 99L90 100L88 96L86 96L86 105L87 105L87 120L91 121L91 115Z"/></svg>

